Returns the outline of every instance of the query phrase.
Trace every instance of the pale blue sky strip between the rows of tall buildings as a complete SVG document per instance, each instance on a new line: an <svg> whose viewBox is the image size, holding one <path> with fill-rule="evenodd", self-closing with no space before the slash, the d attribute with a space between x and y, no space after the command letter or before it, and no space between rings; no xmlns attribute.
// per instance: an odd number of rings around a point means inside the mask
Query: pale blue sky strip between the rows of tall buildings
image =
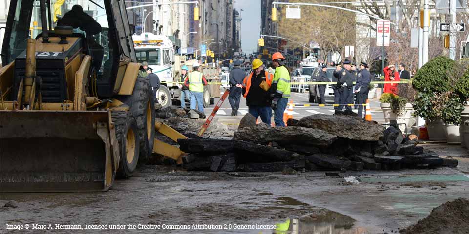
<svg viewBox="0 0 469 234"><path fill-rule="evenodd" d="M241 47L243 52L257 50L260 35L260 0L235 0L235 8L241 11Z"/></svg>

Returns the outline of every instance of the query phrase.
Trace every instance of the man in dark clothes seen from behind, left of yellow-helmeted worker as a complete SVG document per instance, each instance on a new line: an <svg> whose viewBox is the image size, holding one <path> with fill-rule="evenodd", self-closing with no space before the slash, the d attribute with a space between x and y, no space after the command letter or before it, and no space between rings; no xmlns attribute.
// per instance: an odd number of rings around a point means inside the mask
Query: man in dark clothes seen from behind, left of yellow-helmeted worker
<svg viewBox="0 0 469 234"><path fill-rule="evenodd" d="M228 101L231 105L231 115L237 116L239 109L239 101L241 100L241 94L243 92L243 79L246 76L243 70L239 67L241 65L240 60L235 60L233 65L235 68L230 71L230 95Z"/></svg>

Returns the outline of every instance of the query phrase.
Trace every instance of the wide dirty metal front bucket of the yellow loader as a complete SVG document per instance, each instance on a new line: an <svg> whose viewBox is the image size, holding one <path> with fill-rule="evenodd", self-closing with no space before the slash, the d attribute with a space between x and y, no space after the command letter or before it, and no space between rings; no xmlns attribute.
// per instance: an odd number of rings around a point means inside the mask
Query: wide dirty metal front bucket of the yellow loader
<svg viewBox="0 0 469 234"><path fill-rule="evenodd" d="M107 191L119 159L110 123L109 111L0 111L0 192Z"/></svg>

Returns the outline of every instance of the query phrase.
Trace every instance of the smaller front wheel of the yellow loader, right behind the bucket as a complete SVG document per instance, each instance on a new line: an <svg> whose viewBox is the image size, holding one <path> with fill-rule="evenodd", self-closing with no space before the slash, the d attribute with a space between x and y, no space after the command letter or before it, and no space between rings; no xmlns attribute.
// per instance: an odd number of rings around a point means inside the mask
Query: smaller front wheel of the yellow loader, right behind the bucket
<svg viewBox="0 0 469 234"><path fill-rule="evenodd" d="M116 178L126 179L132 176L138 163L140 139L137 120L127 111L112 111L111 116L120 153Z"/></svg>

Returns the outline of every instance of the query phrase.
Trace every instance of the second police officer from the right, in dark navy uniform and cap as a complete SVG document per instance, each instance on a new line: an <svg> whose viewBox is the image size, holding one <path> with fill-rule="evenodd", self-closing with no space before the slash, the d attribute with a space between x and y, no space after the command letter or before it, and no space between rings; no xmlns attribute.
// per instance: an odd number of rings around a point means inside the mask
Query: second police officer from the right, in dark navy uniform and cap
<svg viewBox="0 0 469 234"><path fill-rule="evenodd" d="M341 87L341 106L339 106L339 110L342 110L345 106L345 114L351 114L352 112L352 107L348 106L348 104L352 103L350 93L353 92L353 74L350 63L350 60L347 59L343 62L341 78L338 80Z"/></svg>

